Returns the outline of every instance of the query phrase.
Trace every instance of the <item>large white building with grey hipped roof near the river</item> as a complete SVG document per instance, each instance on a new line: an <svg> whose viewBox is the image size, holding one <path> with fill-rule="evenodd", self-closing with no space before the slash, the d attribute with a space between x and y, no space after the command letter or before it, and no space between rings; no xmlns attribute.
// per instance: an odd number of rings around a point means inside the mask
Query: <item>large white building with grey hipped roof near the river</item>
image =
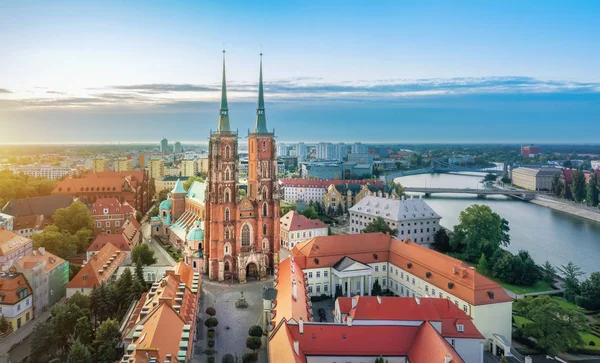
<svg viewBox="0 0 600 363"><path fill-rule="evenodd" d="M409 238L429 247L433 235L440 229L437 214L422 199L394 199L369 195L361 199L350 213L350 233L361 231L377 217L383 218L392 229L398 229L398 239Z"/></svg>

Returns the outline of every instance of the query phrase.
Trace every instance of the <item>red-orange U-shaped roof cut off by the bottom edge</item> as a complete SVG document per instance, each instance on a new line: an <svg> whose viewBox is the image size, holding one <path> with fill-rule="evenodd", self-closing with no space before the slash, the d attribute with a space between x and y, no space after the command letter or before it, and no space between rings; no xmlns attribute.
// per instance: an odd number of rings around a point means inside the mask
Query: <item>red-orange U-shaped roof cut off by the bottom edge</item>
<svg viewBox="0 0 600 363"><path fill-rule="evenodd" d="M298 343L298 354L294 351ZM269 339L271 362L307 361L307 356L408 356L411 363L443 362L448 354L452 363L464 363L458 353L431 324L420 326L353 325L304 323L282 320Z"/></svg>

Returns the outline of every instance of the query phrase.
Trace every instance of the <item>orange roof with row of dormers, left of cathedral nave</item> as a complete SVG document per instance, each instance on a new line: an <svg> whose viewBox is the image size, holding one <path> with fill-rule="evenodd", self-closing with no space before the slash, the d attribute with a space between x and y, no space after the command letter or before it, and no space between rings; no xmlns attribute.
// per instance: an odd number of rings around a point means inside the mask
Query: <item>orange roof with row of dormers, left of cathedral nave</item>
<svg viewBox="0 0 600 363"><path fill-rule="evenodd" d="M110 261L111 258L113 259L112 262ZM98 253L90 256L89 261L69 281L67 288L91 289L100 285L110 279L124 259L125 253L120 249L112 243L105 244Z"/></svg>

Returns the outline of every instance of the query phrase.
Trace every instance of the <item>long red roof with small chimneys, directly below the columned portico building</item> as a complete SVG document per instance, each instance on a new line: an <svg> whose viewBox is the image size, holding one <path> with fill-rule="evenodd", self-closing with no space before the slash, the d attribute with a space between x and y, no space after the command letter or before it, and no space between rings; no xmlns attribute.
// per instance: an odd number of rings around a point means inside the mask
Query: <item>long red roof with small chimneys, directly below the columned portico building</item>
<svg viewBox="0 0 600 363"><path fill-rule="evenodd" d="M339 297L337 302L340 312L353 320L439 321L445 338L483 339L472 319L448 299L355 296ZM457 330L457 324L463 325L462 332Z"/></svg>

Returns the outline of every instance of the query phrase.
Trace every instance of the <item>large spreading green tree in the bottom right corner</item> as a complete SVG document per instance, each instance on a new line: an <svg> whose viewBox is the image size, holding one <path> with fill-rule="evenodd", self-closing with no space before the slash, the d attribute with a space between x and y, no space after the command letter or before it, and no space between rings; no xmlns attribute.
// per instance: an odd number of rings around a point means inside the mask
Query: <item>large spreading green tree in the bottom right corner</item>
<svg viewBox="0 0 600 363"><path fill-rule="evenodd" d="M558 354L582 343L579 331L586 327L583 314L566 309L549 296L525 297L515 302L515 311L532 322L522 333L536 341L538 349Z"/></svg>

